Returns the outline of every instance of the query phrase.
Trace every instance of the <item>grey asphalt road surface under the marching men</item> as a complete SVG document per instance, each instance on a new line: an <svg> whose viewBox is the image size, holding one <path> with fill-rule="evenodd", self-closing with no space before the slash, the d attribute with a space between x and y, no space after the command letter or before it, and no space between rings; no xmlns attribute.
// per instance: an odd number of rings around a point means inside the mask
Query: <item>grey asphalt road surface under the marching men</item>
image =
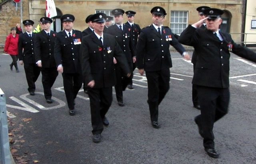
<svg viewBox="0 0 256 164"><path fill-rule="evenodd" d="M110 125L104 128L100 143L92 142L89 100L82 90L76 98L76 115L70 116L60 74L52 87L57 99L47 104L41 75L36 82L36 95L30 96L23 66L19 65L20 73L10 71L11 57L0 55L0 88L6 94L10 116L16 116L10 118L9 125L15 141L10 146L17 150L13 153L15 161L256 163L256 63L241 61L233 54L230 57L229 113L214 124L215 146L220 153L220 158L214 159L204 151L194 123L200 111L192 105L193 66L178 53L171 55L170 90L159 106L161 128L154 129L150 124L146 77L143 80L135 70L134 90L123 93L126 106L119 107L113 94L106 115Z"/></svg>

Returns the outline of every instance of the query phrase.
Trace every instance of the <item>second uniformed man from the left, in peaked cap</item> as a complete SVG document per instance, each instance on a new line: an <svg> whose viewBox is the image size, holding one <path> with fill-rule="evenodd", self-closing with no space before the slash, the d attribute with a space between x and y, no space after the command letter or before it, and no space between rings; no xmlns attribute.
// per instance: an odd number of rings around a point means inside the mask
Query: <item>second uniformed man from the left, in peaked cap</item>
<svg viewBox="0 0 256 164"><path fill-rule="evenodd" d="M56 32L50 30L51 18L42 17L43 30L36 34L35 58L36 64L42 72L42 84L44 87L44 97L47 103L52 103L52 85L54 84L58 71L54 59L54 43Z"/></svg>

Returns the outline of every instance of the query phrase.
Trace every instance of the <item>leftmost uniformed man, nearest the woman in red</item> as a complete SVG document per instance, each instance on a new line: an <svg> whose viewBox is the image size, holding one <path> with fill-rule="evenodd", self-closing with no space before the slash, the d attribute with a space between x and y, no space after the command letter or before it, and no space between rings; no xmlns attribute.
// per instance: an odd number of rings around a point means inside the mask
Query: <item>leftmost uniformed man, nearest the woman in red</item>
<svg viewBox="0 0 256 164"><path fill-rule="evenodd" d="M26 32L19 35L18 55L20 64L24 64L26 79L28 82L28 92L31 96L35 95L35 82L40 75L40 68L36 65L34 54L35 33L32 32L34 21L24 20ZM22 53L22 49L24 49Z"/></svg>

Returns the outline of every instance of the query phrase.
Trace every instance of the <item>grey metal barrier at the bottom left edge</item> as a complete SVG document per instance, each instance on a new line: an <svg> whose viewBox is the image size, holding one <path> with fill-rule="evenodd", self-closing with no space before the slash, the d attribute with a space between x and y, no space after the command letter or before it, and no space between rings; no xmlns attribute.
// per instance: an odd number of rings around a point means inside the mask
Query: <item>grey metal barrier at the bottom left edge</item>
<svg viewBox="0 0 256 164"><path fill-rule="evenodd" d="M6 115L6 98L0 88L0 164L11 164L8 123Z"/></svg>

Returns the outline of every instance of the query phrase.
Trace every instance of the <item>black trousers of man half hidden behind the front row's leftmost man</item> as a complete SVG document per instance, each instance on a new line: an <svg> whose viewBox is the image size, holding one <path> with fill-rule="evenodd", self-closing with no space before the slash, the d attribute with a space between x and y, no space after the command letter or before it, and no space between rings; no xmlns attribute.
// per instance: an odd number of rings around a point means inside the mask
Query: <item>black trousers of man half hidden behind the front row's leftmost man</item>
<svg viewBox="0 0 256 164"><path fill-rule="evenodd" d="M130 71L132 72L132 63L128 62ZM123 101L123 91L128 86L129 80L132 79L133 74L128 78L126 74L122 71L121 67L118 64L115 64L115 72L116 72L116 99L118 102Z"/></svg>

